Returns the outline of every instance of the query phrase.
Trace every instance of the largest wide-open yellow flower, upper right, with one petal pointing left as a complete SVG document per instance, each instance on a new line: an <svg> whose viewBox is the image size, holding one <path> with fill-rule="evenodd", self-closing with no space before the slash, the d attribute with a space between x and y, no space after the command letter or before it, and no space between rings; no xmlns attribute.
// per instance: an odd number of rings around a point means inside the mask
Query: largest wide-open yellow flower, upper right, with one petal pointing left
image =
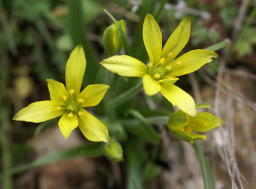
<svg viewBox="0 0 256 189"><path fill-rule="evenodd" d="M160 91L173 106L177 105L183 112L195 117L193 98L174 83L178 80L177 76L196 71L218 55L211 50L192 50L175 59L189 41L190 28L191 20L185 18L162 50L160 28L153 16L147 14L143 24L143 41L150 60L148 67L127 55L113 56L100 64L120 76L143 77L143 87L147 95L155 95Z"/></svg>

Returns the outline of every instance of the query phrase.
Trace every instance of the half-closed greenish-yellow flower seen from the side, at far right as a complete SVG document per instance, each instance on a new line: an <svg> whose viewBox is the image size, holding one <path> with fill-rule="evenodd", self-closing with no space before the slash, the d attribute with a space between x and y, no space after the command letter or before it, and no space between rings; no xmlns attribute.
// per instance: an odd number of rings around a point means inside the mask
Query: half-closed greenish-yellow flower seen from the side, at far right
<svg viewBox="0 0 256 189"><path fill-rule="evenodd" d="M203 107L210 108L207 103L202 103L196 106L196 108ZM207 132L208 130L223 124L223 120L213 116L211 113L197 113L197 117L191 117L187 113L182 112L182 110L173 113L168 120L168 128L172 134L178 139L191 143L193 143L193 139L206 140L206 135L195 134L192 130Z"/></svg>

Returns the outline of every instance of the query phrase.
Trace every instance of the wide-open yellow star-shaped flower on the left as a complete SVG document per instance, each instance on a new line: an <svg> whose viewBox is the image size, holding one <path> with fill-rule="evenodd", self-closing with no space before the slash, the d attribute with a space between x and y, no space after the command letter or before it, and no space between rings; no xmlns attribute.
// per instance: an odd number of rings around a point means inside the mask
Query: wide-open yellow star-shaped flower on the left
<svg viewBox="0 0 256 189"><path fill-rule="evenodd" d="M20 110L13 120L40 123L61 116L59 128L64 139L67 139L71 131L79 126L88 140L110 142L105 125L83 109L98 105L109 86L93 84L80 93L85 68L83 46L78 45L67 60L66 89L62 83L47 79L50 100L28 105Z"/></svg>

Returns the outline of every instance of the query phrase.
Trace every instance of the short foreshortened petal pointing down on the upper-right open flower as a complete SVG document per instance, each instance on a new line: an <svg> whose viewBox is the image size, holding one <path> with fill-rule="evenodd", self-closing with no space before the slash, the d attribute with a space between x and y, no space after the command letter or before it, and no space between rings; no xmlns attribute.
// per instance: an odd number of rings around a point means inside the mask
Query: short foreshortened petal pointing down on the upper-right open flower
<svg viewBox="0 0 256 189"><path fill-rule="evenodd" d="M143 77L143 88L149 96L156 95L161 89L160 83L154 80L149 74Z"/></svg>

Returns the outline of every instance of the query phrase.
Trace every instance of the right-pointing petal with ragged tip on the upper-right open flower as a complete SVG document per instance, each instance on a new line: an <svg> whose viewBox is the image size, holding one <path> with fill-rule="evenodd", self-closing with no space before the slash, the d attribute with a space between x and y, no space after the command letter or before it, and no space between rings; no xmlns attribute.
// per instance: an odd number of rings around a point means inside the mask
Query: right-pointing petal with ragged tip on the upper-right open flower
<svg viewBox="0 0 256 189"><path fill-rule="evenodd" d="M165 73L166 76L182 76L189 74L191 72L197 71L204 64L211 62L211 58L216 58L218 55L211 50L191 50L186 54L182 55L178 59L174 60L172 64L172 69ZM175 65L175 62L180 62L178 66Z"/></svg>

